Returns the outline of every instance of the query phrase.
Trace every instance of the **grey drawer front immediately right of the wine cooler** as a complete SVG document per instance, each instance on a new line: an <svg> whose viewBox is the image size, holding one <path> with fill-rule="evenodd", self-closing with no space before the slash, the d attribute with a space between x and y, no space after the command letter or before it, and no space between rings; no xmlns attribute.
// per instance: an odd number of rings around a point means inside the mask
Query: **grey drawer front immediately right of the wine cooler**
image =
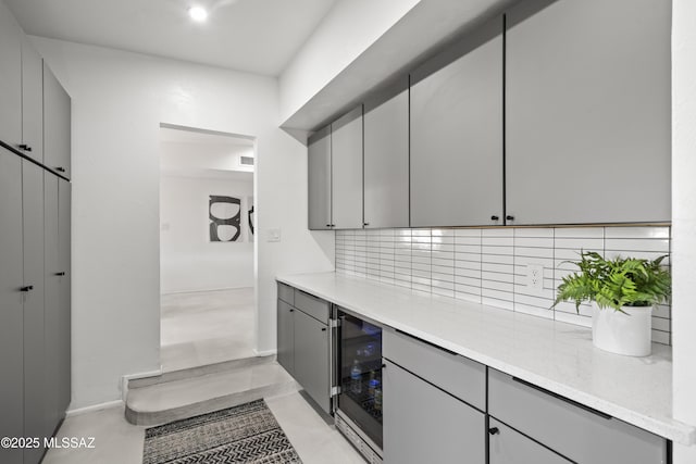
<svg viewBox="0 0 696 464"><path fill-rule="evenodd" d="M391 330L382 334L384 358L485 411L486 366Z"/></svg>

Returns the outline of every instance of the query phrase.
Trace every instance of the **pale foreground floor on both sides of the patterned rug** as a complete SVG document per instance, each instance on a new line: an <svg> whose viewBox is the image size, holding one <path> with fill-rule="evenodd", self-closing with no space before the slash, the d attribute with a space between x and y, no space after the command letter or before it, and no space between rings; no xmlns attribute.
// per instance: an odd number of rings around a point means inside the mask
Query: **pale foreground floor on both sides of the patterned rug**
<svg viewBox="0 0 696 464"><path fill-rule="evenodd" d="M357 451L299 394L266 403L304 464L363 464ZM94 449L52 449L44 464L139 464L145 427L128 424L123 407L67 417L58 437L95 437Z"/></svg>

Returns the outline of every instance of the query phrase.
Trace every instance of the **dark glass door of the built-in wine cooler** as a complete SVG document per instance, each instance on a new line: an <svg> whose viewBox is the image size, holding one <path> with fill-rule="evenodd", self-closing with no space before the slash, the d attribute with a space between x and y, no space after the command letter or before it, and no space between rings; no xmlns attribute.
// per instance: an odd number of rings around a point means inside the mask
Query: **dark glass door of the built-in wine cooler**
<svg viewBox="0 0 696 464"><path fill-rule="evenodd" d="M382 328L339 313L338 409L382 448Z"/></svg>

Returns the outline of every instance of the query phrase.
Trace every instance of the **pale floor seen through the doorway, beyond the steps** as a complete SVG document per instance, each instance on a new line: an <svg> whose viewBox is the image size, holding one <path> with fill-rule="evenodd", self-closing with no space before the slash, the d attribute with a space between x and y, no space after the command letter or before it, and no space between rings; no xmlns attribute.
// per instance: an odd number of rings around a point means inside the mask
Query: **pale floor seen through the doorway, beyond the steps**
<svg viewBox="0 0 696 464"><path fill-rule="evenodd" d="M253 356L253 288L161 297L160 359L172 372Z"/></svg>

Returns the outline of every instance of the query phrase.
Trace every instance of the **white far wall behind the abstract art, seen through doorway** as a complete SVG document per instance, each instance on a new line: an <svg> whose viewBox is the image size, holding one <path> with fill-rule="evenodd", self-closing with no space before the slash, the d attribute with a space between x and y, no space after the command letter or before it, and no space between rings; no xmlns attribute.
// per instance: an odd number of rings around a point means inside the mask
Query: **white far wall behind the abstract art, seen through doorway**
<svg viewBox="0 0 696 464"><path fill-rule="evenodd" d="M234 178L162 176L160 178L160 292L253 287L253 236L247 211L253 196L248 181ZM241 200L236 242L211 242L210 195Z"/></svg>

